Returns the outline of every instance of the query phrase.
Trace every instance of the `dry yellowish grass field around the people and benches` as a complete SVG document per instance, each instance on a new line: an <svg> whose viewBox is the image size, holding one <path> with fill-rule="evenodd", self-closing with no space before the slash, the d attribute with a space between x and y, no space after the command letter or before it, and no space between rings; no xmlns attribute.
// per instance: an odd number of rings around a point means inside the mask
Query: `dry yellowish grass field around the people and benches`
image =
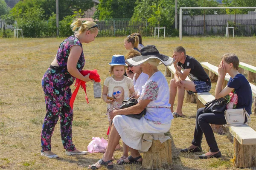
<svg viewBox="0 0 256 170"><path fill-rule="evenodd" d="M0 39L0 168L11 170L73 170L87 169L102 157L102 153L86 156L66 156L62 143L59 122L52 136L52 151L59 159L47 159L40 155L41 126L45 116L44 92L41 78L55 57L59 44L64 38L44 39ZM109 76L108 63L113 54L126 54L123 47L124 37L96 38L95 42L84 44L86 65L84 69L97 69L102 84ZM188 55L200 62L218 65L220 58L227 52L236 53L240 61L256 66L256 38L236 37L183 37L154 39L143 38L143 43L156 45L162 54L171 56L172 50L182 45ZM159 69L164 72L164 66ZM170 81L170 78L166 78ZM72 86L74 90L74 86ZM166 89L168 91L168 89ZM214 85L211 92L214 92ZM106 104L102 99L93 98L93 84L87 83L89 104L80 89L74 103L73 142L79 150L87 150L93 136L104 137L108 130L108 119L105 115ZM175 106L176 107L176 106ZM233 138L215 134L223 156L220 159L201 160L198 154L180 153L188 147L195 128L196 105L183 105L183 118L172 121L172 155L175 170L236 170L230 159L233 158ZM256 130L256 117L252 116L251 127ZM204 152L209 147L203 139ZM122 150L114 153L115 159L122 156ZM115 170L138 170L140 165L117 166ZM104 167L102 169L105 169ZM252 168L251 168L252 169Z"/></svg>

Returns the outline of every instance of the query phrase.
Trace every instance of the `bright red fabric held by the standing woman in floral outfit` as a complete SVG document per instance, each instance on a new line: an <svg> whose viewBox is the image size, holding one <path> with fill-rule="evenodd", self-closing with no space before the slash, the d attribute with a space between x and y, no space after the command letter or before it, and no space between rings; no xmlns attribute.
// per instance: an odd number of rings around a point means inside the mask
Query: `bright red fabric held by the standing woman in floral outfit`
<svg viewBox="0 0 256 170"><path fill-rule="evenodd" d="M95 82L100 82L100 76L98 74L98 71L95 69L95 70L82 70L80 71L80 73L83 75L83 76L86 76L87 74L90 73L90 76L89 78L90 79L93 79ZM75 83L75 86L76 86L76 89L75 91L73 92L72 96L71 96L71 99L70 99L70 107L73 109L73 104L74 104L74 101L76 99L76 95L77 95L77 92L79 90L79 87L81 85L81 87L84 89L84 92L85 92L85 99L87 101L87 103L89 103L88 101L88 97L87 97L87 94L86 94L86 85L85 85L86 82L76 78L76 83Z"/></svg>

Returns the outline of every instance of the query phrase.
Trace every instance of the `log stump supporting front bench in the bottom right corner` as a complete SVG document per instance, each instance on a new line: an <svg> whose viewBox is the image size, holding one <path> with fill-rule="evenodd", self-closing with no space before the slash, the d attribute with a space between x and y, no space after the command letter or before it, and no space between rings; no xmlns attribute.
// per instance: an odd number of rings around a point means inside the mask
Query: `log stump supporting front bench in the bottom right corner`
<svg viewBox="0 0 256 170"><path fill-rule="evenodd" d="M256 145L242 145L234 137L234 157L232 161L235 167L255 167Z"/></svg>

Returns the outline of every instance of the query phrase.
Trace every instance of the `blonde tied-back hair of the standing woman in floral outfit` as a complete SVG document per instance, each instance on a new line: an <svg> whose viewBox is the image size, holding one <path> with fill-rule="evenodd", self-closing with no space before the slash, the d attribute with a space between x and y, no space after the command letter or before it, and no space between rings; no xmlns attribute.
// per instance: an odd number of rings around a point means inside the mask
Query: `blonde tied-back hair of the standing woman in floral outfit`
<svg viewBox="0 0 256 170"><path fill-rule="evenodd" d="M81 20L78 19L78 20L74 21L70 25L70 27L72 28L72 31L75 31L75 34L78 34L78 33L82 34L84 31L89 30L89 28L92 33L95 32L96 30L98 30L98 28L97 27L91 28L91 27L96 26L96 25L97 24L94 23L93 21L86 21L85 23L83 23ZM79 30L76 31L76 28L79 28Z"/></svg>

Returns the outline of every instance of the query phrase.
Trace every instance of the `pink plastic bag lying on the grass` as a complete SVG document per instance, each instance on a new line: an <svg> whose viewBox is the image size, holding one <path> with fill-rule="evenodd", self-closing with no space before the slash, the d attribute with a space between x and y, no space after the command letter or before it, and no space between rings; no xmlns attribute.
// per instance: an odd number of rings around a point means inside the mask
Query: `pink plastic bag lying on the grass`
<svg viewBox="0 0 256 170"><path fill-rule="evenodd" d="M102 152L105 153L108 141L106 141L103 137L100 139L99 137L93 137L93 140L88 144L87 150L90 153Z"/></svg>

